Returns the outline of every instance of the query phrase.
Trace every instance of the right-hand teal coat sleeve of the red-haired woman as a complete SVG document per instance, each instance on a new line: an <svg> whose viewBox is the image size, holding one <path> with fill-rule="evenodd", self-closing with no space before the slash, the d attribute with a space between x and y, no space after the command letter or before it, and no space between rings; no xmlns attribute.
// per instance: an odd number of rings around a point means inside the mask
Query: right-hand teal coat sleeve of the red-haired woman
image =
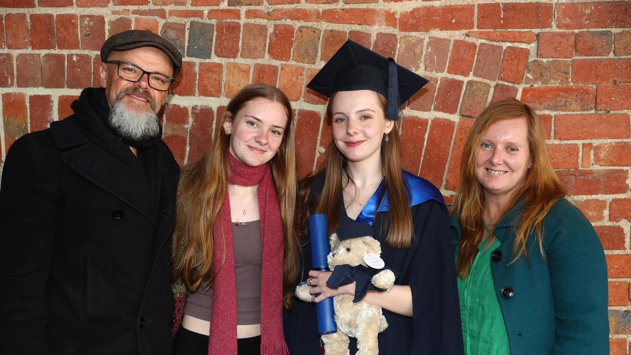
<svg viewBox="0 0 631 355"><path fill-rule="evenodd" d="M545 226L554 300L553 354L609 354L607 266L589 221L568 202L558 203L558 226ZM550 212L550 214L555 213ZM557 215L557 213L555 213Z"/></svg>

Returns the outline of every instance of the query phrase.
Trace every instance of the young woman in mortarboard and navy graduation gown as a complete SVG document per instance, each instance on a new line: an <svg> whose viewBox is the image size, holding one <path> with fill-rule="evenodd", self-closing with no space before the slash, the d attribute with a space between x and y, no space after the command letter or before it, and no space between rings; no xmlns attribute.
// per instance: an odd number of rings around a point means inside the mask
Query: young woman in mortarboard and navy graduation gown
<svg viewBox="0 0 631 355"><path fill-rule="evenodd" d="M447 208L435 186L401 169L399 106L426 83L393 59L348 40L307 85L329 97L326 116L333 137L325 169L302 181L298 214L301 220L326 215L329 234L346 219L374 229L381 258L398 274L390 291L370 290L363 298L386 316L379 354L463 352ZM355 282L327 286L331 273L309 270L308 231L302 244L296 283L306 281L311 294L320 293L315 302L365 291ZM314 304L294 299L284 328L290 354L320 354ZM355 339L350 352L357 352Z"/></svg>

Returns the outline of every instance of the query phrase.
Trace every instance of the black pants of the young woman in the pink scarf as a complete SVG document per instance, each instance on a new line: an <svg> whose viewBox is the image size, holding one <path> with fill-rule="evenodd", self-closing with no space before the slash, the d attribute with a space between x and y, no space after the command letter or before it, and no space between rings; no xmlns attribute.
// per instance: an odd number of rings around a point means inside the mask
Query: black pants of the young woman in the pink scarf
<svg viewBox="0 0 631 355"><path fill-rule="evenodd" d="M260 355L261 335L237 339L238 355ZM208 335L180 327L175 333L173 355L208 355Z"/></svg>

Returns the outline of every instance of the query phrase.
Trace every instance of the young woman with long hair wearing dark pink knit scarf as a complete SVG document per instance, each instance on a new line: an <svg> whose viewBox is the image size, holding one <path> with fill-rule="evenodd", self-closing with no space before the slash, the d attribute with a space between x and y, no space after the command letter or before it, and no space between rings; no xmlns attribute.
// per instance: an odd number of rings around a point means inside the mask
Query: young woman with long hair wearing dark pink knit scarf
<svg viewBox="0 0 631 355"><path fill-rule="evenodd" d="M287 353L281 320L291 294L283 290L296 277L298 251L294 152L289 100L252 84L228 102L203 159L182 170L175 354Z"/></svg>

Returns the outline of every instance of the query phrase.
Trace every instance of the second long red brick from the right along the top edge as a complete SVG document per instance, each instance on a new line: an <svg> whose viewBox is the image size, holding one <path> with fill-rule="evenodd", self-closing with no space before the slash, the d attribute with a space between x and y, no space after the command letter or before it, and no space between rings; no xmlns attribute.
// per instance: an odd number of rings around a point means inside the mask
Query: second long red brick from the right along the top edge
<svg viewBox="0 0 631 355"><path fill-rule="evenodd" d="M550 28L553 11L544 3L478 4L478 29Z"/></svg>

